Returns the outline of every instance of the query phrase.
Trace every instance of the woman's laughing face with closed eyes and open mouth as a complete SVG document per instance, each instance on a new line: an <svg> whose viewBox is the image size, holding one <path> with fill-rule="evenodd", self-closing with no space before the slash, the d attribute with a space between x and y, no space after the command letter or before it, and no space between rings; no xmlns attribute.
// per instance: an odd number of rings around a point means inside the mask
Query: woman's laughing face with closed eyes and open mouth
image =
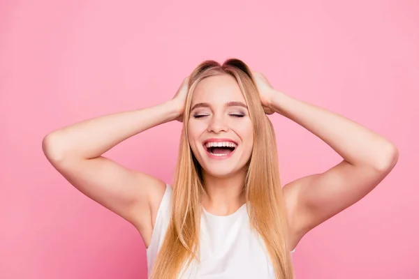
<svg viewBox="0 0 419 279"><path fill-rule="evenodd" d="M253 126L234 77L217 75L200 81L187 128L193 154L208 174L229 176L249 161Z"/></svg>

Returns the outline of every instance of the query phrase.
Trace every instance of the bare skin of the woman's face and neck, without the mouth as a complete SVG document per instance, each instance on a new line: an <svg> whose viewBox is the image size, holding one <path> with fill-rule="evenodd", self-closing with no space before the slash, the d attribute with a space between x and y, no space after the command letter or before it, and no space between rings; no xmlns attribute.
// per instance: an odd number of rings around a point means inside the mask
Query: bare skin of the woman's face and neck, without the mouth
<svg viewBox="0 0 419 279"><path fill-rule="evenodd" d="M244 107L243 107L244 106ZM241 195L253 146L253 126L246 101L230 75L207 77L193 93L188 125L189 143L203 168L209 195L203 206L216 215L233 213L244 203ZM203 146L209 139L233 140L237 147L229 158L210 158Z"/></svg>

